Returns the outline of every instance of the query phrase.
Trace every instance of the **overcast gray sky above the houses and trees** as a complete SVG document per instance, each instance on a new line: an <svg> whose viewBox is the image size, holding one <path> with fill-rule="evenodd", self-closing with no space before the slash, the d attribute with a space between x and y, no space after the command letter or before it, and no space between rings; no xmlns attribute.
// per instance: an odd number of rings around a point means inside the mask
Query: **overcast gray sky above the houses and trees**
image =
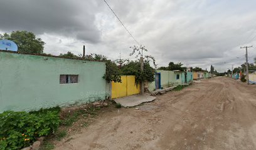
<svg viewBox="0 0 256 150"><path fill-rule="evenodd" d="M225 71L256 56L255 0L106 0L158 66L170 61ZM104 0L1 0L0 33L35 32L45 53L129 56L136 42Z"/></svg>

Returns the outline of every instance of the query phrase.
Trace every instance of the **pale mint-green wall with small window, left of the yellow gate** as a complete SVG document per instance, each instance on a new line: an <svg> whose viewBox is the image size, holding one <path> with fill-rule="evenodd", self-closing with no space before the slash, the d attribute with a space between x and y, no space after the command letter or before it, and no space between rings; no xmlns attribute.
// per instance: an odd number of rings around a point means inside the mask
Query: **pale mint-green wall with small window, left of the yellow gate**
<svg viewBox="0 0 256 150"><path fill-rule="evenodd" d="M105 63L0 52L0 112L30 111L105 99ZM60 74L78 83L60 84Z"/></svg>

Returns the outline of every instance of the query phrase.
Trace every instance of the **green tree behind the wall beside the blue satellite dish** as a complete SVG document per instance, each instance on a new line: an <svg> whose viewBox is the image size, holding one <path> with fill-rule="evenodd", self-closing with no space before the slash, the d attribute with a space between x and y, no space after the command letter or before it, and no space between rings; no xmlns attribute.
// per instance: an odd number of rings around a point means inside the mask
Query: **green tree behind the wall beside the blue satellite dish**
<svg viewBox="0 0 256 150"><path fill-rule="evenodd" d="M18 45L18 51L28 54L43 54L45 42L40 38L36 38L33 32L13 31L9 35L4 33L0 35L0 39L9 39Z"/></svg>

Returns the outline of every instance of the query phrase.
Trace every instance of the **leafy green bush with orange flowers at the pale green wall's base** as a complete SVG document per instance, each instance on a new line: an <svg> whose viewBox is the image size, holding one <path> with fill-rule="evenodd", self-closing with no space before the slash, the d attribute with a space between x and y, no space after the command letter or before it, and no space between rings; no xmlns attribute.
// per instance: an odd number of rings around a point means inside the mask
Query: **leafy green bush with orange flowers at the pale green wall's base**
<svg viewBox="0 0 256 150"><path fill-rule="evenodd" d="M5 111L0 114L0 149L21 149L31 145L36 138L53 133L60 124L59 110Z"/></svg>

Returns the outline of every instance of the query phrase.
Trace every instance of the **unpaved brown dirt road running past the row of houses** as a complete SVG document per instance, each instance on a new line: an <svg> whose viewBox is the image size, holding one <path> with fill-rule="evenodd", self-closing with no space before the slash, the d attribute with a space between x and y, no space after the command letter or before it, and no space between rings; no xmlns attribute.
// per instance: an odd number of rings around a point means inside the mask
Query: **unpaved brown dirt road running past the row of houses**
<svg viewBox="0 0 256 150"><path fill-rule="evenodd" d="M256 86L206 79L115 109L56 149L256 149Z"/></svg>

